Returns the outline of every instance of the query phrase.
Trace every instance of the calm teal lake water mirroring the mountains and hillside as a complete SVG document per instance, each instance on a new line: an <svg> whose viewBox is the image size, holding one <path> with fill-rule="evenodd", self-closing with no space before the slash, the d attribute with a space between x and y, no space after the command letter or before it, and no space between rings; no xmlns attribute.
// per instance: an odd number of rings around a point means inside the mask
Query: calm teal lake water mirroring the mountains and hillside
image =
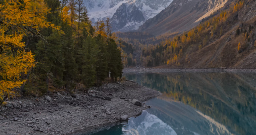
<svg viewBox="0 0 256 135"><path fill-rule="evenodd" d="M256 73L124 73L163 95L93 135L255 135Z"/></svg>

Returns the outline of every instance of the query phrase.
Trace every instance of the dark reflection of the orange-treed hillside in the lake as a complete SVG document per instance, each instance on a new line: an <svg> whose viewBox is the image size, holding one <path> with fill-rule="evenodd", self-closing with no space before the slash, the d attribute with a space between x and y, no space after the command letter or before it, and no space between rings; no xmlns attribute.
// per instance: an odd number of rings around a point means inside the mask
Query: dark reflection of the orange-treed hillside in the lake
<svg viewBox="0 0 256 135"><path fill-rule="evenodd" d="M125 76L162 92L165 101L190 105L206 119L226 128L223 127L226 133L209 129L213 134L256 134L255 73L126 73Z"/></svg>

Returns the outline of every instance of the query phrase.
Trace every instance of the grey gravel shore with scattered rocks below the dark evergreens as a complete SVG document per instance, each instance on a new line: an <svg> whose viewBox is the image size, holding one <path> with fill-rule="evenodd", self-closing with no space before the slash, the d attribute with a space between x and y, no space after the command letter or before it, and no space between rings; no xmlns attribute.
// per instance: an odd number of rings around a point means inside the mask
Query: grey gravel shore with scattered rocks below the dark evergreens
<svg viewBox="0 0 256 135"><path fill-rule="evenodd" d="M65 91L12 99L0 108L1 135L88 134L139 115L143 101L161 95L133 81L108 83L88 92Z"/></svg>

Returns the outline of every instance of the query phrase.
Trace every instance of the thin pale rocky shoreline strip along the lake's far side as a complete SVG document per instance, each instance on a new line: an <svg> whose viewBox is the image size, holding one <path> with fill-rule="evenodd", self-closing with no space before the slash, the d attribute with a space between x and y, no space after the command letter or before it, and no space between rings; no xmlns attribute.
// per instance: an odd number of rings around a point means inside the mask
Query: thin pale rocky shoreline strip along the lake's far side
<svg viewBox="0 0 256 135"><path fill-rule="evenodd" d="M236 68L124 68L124 73L129 72L241 72L241 73L256 73L256 69L236 69Z"/></svg>

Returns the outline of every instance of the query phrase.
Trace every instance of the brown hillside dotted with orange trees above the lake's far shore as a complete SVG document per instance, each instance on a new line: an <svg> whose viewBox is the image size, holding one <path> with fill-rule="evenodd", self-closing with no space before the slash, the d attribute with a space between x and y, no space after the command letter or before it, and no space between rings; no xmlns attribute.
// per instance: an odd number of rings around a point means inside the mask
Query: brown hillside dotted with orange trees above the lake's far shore
<svg viewBox="0 0 256 135"><path fill-rule="evenodd" d="M225 9L164 44L142 50L144 66L256 68L256 1L234 0Z"/></svg>

